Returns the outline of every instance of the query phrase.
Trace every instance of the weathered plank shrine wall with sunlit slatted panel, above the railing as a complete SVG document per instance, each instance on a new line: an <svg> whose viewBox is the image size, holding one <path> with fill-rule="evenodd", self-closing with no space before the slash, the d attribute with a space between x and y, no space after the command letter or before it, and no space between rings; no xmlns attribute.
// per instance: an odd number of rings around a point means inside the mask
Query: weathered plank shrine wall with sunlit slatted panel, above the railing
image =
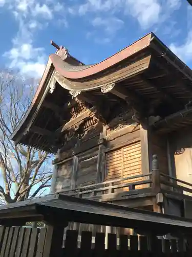
<svg viewBox="0 0 192 257"><path fill-rule="evenodd" d="M57 164L56 192L141 173L140 126L106 131L103 127L100 135L87 135L81 152ZM93 138L97 140L94 147Z"/></svg>

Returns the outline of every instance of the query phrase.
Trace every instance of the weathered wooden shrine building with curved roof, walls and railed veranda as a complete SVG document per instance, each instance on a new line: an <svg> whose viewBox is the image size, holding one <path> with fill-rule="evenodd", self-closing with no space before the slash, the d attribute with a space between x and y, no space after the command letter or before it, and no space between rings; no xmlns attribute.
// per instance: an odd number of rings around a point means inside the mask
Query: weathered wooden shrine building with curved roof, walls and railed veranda
<svg viewBox="0 0 192 257"><path fill-rule="evenodd" d="M52 193L190 216L191 69L153 33L94 65L54 45L12 135L56 155Z"/></svg>

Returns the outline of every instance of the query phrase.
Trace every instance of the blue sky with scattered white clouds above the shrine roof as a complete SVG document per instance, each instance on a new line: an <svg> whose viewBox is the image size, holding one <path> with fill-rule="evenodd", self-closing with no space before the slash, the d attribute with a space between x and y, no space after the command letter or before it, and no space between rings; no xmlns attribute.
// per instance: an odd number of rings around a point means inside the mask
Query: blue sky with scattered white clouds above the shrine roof
<svg viewBox="0 0 192 257"><path fill-rule="evenodd" d="M186 0L0 0L0 68L39 78L52 39L86 64L148 32L192 68L192 7Z"/></svg>

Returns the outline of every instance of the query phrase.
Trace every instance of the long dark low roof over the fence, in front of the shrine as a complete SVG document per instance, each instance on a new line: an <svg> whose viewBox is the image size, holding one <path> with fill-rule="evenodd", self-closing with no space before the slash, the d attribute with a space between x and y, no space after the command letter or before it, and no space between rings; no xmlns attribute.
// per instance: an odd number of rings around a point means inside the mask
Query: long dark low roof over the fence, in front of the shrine
<svg viewBox="0 0 192 257"><path fill-rule="evenodd" d="M142 231L190 232L192 220L119 205L99 203L62 194L34 198L0 208L2 225L14 221L42 220L58 225L79 222L95 225L135 228ZM64 224L65 223L65 224Z"/></svg>

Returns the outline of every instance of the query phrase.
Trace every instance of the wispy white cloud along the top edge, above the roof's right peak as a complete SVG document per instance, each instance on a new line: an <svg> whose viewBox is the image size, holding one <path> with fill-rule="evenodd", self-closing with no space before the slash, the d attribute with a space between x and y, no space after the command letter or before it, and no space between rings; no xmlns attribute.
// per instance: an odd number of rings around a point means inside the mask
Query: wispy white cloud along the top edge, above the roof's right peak
<svg viewBox="0 0 192 257"><path fill-rule="evenodd" d="M84 15L87 12L111 14L122 12L133 16L139 22L141 28L147 29L163 22L169 15L181 5L181 0L86 0L84 4L73 8Z"/></svg>

